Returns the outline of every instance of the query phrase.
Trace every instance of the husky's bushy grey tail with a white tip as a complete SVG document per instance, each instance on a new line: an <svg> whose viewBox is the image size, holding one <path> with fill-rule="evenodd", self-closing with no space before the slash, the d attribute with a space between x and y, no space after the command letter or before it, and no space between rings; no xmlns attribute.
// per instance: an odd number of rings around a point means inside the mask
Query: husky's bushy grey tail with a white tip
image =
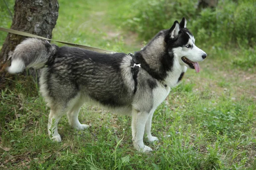
<svg viewBox="0 0 256 170"><path fill-rule="evenodd" d="M28 38L15 48L9 73L20 73L25 68L42 68L50 61L58 50L58 46L47 40Z"/></svg>

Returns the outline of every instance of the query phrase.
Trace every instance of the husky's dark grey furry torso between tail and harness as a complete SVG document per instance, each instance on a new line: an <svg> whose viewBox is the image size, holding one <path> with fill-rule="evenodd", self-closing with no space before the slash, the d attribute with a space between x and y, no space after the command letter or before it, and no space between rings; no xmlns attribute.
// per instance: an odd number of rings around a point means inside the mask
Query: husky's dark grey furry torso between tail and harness
<svg viewBox="0 0 256 170"><path fill-rule="evenodd" d="M122 76L123 69L130 70L131 74L131 57L123 53L102 54L76 47L58 48L54 57L41 75L44 80L41 86L47 87L45 96L67 103L81 93L81 97L110 107L131 104L134 85L127 85L125 81L134 80L131 76Z"/></svg>

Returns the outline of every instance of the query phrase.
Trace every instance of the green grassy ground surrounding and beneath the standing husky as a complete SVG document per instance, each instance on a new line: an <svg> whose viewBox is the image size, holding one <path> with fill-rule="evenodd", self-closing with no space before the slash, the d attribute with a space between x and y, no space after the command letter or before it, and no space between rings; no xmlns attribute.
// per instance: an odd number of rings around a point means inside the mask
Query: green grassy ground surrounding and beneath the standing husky
<svg viewBox="0 0 256 170"><path fill-rule="evenodd" d="M59 0L53 39L137 51L143 42L122 25L131 2ZM52 142L38 86L17 76L15 88L0 94L0 169L255 170L256 70L230 62L243 57L240 51L203 50L208 58L200 73L187 71L155 111L152 132L160 142L146 143L154 148L146 154L132 146L129 117L91 106L79 115L88 130L70 128L64 117L58 125L63 142Z"/></svg>

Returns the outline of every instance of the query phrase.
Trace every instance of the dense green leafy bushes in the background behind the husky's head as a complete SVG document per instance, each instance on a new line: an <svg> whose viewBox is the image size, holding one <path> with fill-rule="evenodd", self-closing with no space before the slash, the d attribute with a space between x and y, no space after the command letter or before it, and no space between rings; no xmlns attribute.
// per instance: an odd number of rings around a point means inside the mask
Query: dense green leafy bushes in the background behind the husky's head
<svg viewBox="0 0 256 170"><path fill-rule="evenodd" d="M127 20L128 28L150 39L161 29L172 26L175 20L186 17L188 28L199 43L240 43L255 45L256 2L253 0L220 0L218 6L200 9L198 0L138 0L132 9L134 17ZM134 11L137 11L137 13ZM253 44L254 43L254 44Z"/></svg>

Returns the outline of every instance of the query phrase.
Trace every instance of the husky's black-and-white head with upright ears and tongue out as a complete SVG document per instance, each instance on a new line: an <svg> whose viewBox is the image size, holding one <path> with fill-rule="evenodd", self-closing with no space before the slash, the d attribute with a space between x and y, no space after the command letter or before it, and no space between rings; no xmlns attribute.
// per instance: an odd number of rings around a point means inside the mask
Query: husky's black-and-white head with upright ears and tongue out
<svg viewBox="0 0 256 170"><path fill-rule="evenodd" d="M198 62L203 61L207 54L195 45L193 34L186 28L186 19L175 21L165 36L166 48L174 57L178 57L180 65L195 69L198 73Z"/></svg>

